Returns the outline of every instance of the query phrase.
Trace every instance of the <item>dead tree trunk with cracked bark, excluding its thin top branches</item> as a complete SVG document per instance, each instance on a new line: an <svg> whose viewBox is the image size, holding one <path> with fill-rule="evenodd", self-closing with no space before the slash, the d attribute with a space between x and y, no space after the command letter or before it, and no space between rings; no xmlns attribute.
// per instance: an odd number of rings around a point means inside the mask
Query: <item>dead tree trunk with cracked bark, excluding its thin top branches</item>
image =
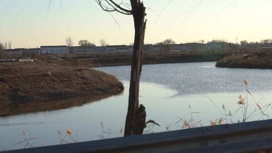
<svg viewBox="0 0 272 153"><path fill-rule="evenodd" d="M134 1L132 3L132 0L131 7L134 19L135 35L124 136L143 134L146 121L145 107L143 105L139 107L139 83L143 65L146 8L144 7L143 3L139 3L138 1Z"/></svg>

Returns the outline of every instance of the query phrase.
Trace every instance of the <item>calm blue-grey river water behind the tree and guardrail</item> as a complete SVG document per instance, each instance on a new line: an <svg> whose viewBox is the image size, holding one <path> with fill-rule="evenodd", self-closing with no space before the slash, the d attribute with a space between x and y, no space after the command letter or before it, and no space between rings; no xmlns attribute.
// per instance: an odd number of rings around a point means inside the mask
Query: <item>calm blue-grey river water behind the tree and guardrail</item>
<svg viewBox="0 0 272 153"><path fill-rule="evenodd" d="M168 70L169 68L173 68L172 72ZM114 74L122 80L125 87L123 95L69 109L0 117L0 149L23 148L24 144L14 145L23 140L20 135L21 131L25 131L28 138L37 137L31 141L34 146L40 146L41 142L44 145L59 144L57 131L64 133L66 128L73 131L74 138L78 141L99 139L101 121L104 123L104 130L109 131L110 129L113 133L105 137L119 136L118 132L121 127L124 127L127 111L129 66L96 69ZM191 73L190 77L185 72ZM171 78L174 75L172 73L176 73L174 79ZM246 76L249 73L248 78ZM256 79L254 73L259 78L267 80ZM232 112L233 117L228 117L229 120L238 122L242 120L242 112L235 113L239 108L238 96L239 94L246 96L242 79L245 77L249 80L249 91L255 99L252 97L248 99L250 104L248 112L252 112L256 101L261 99L260 106L270 104L272 101L271 87L266 85L271 82L270 73L272 74L270 70L215 68L214 62L145 65L140 85L140 103L146 107L147 120L155 120L161 125L161 127L154 126L155 132L165 131L166 125L171 123L170 130L180 129L182 122L175 124L180 119L179 117L187 121L191 119L188 104L192 112L199 112L193 114L192 118L195 122L201 121L202 125L209 125L210 121L224 117L223 104L226 106L226 112ZM226 76L220 79L223 74ZM186 86L181 86L184 78L188 79ZM192 83L194 80L197 82ZM210 82L215 84L214 88L217 90L212 90L210 86L207 86ZM219 85L216 82L219 82ZM225 83L228 83L227 87L219 87L226 86ZM253 86L258 83L264 85L263 89L260 90L259 86ZM230 87L235 87L234 91L231 91ZM189 91L193 92L188 94ZM271 115L271 107L265 112ZM257 114L249 120L259 120L262 117ZM224 123L229 120L225 120Z"/></svg>

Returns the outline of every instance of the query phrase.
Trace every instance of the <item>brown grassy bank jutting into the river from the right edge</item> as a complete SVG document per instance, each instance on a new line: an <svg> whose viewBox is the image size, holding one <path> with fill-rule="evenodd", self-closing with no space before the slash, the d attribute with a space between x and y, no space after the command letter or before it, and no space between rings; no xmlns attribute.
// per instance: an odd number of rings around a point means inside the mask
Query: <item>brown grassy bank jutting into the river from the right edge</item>
<svg viewBox="0 0 272 153"><path fill-rule="evenodd" d="M272 53L247 52L234 53L216 63L217 67L272 69Z"/></svg>

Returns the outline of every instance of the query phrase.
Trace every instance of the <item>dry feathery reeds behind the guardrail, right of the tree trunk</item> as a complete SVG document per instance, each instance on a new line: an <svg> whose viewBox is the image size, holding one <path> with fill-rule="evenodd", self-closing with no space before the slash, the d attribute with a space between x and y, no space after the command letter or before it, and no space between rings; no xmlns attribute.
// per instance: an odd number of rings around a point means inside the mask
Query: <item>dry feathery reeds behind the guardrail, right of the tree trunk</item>
<svg viewBox="0 0 272 153"><path fill-rule="evenodd" d="M245 97L242 95L238 96L238 101L237 103L237 109L234 111L231 110L227 110L227 107L225 104L222 105L222 109L218 108L216 103L210 98L207 97L212 104L215 106L215 108L221 113L222 116L219 116L217 119L215 120L211 120L210 121L210 125L214 126L214 125L222 125L222 124L233 124L233 123L240 123L240 122L246 122L249 119L255 117L255 116L260 116L262 118L262 120L264 120L265 118L269 119L269 115L268 113L266 113L266 110L268 108L270 108L271 103L270 104L266 104L264 106L260 106L260 101L262 99L260 99L259 101L256 101L255 98L253 97L253 95L248 91L247 89L247 85L249 84L249 82L246 79L242 80L244 83L244 87L245 87ZM253 102L249 102L249 96L254 100ZM249 112L249 106L254 106L253 111ZM188 105L189 111L190 111L190 119L186 120L183 119L181 117L178 117L178 121L175 124L167 124L165 126L165 131L170 131L171 130L171 126L175 125L176 127L179 127L181 129L190 129L190 128L195 128L195 127L201 127L202 123L201 120L200 121L195 121L193 118L194 114L198 114L201 112L195 112L192 110L191 105ZM234 118L234 115L241 113L240 118ZM150 133L154 133L154 129L153 126L149 126L148 132Z"/></svg>

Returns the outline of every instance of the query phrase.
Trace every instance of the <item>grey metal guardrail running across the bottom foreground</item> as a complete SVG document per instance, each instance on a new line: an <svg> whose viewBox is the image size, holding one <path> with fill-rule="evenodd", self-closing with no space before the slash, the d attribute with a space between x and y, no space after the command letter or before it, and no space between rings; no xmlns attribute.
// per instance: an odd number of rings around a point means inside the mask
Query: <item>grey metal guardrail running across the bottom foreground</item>
<svg viewBox="0 0 272 153"><path fill-rule="evenodd" d="M258 152L272 150L272 120L199 127L72 144L5 151L45 152Z"/></svg>

